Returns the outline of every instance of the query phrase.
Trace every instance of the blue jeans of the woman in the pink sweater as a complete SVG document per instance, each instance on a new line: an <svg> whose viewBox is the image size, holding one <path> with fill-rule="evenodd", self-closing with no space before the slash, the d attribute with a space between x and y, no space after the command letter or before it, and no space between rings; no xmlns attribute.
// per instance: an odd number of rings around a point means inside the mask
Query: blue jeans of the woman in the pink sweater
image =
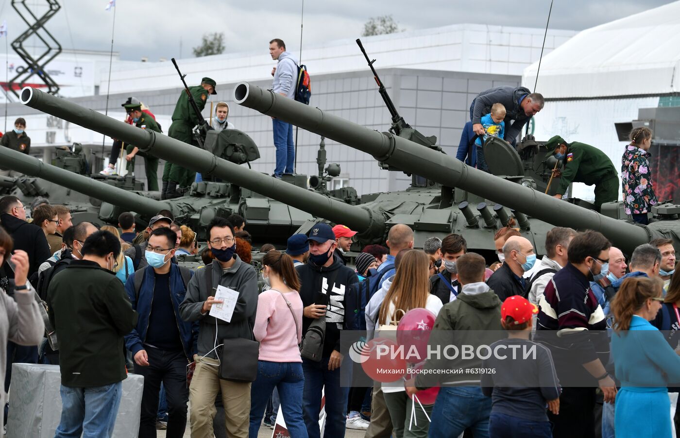
<svg viewBox="0 0 680 438"><path fill-rule="evenodd" d="M307 428L305 428L305 422L301 415L303 388L305 387L305 375L301 363L258 360L257 369L257 378L250 385L248 437L257 438L267 401L269 401L273 389L277 388L290 437L307 438Z"/></svg>

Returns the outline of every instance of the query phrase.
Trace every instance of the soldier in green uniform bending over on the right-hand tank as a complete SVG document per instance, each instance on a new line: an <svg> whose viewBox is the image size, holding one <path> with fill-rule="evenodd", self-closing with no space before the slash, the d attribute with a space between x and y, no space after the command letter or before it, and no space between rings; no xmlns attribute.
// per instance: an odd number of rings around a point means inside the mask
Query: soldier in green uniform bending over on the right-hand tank
<svg viewBox="0 0 680 438"><path fill-rule="evenodd" d="M554 177L560 178L560 186L554 197L562 199L569 184L582 182L595 185L595 209L599 212L602 203L619 199L619 175L609 156L594 146L573 141L567 143L555 135L545 144L550 151L545 158L555 156L562 160L562 171L554 170Z"/></svg>

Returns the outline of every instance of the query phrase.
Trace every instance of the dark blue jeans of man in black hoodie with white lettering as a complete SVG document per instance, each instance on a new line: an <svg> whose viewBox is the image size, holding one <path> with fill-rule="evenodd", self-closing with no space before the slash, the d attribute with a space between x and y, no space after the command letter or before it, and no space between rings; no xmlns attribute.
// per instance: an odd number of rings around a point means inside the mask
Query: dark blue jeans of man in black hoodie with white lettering
<svg viewBox="0 0 680 438"><path fill-rule="evenodd" d="M343 363L343 367L347 365ZM320 438L319 413L321 411L321 390L326 397L326 430L325 438L344 438L347 422L347 395L350 388L340 386L340 368L328 371L328 358L314 362L303 358L302 369L305 371L305 393L303 395L303 413L307 424L309 438ZM282 399L282 405L283 405Z"/></svg>

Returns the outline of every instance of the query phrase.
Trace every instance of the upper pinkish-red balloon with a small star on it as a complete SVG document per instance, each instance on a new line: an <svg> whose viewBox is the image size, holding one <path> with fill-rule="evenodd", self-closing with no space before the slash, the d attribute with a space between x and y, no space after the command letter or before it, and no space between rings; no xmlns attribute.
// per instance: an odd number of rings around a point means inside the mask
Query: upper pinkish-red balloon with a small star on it
<svg viewBox="0 0 680 438"><path fill-rule="evenodd" d="M437 316L428 309L411 309L399 320L396 341L404 346L407 362L419 363L427 358L427 343Z"/></svg>

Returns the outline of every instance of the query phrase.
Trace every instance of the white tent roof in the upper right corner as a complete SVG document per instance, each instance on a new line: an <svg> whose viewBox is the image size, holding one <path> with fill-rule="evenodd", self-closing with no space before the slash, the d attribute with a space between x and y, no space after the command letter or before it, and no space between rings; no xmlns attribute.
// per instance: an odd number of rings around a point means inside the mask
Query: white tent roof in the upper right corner
<svg viewBox="0 0 680 438"><path fill-rule="evenodd" d="M533 89L538 63L524 70ZM543 56L547 99L660 95L680 90L680 1L582 31Z"/></svg>

